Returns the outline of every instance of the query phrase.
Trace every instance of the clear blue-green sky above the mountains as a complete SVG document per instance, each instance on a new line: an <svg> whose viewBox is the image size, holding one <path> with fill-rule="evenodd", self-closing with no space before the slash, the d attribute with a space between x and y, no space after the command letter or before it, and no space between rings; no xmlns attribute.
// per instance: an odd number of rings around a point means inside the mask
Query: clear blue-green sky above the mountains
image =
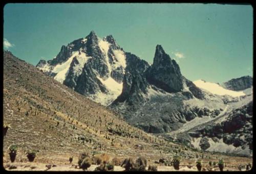
<svg viewBox="0 0 256 174"><path fill-rule="evenodd" d="M112 34L124 51L149 63L161 44L189 80L225 82L252 76L250 5L217 4L7 4L4 45L33 65L61 45Z"/></svg>

